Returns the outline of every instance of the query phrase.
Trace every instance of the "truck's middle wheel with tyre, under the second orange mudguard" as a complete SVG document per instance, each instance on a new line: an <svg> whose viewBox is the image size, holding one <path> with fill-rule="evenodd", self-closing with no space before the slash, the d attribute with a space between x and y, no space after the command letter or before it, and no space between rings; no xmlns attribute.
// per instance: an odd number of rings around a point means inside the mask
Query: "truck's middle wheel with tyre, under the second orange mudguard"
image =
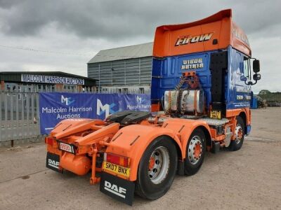
<svg viewBox="0 0 281 210"><path fill-rule="evenodd" d="M191 176L199 171L206 153L206 140L202 129L196 129L190 135L185 153L185 175Z"/></svg>

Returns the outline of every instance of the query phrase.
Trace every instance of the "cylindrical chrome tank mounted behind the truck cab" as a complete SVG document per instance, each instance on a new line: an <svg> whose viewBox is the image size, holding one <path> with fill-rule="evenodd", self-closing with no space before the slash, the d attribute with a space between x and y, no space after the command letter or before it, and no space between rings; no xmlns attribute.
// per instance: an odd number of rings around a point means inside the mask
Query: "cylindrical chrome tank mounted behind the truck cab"
<svg viewBox="0 0 281 210"><path fill-rule="evenodd" d="M180 101L180 107L178 107L178 101ZM203 90L167 90L164 94L165 111L202 114L204 113L204 104Z"/></svg>

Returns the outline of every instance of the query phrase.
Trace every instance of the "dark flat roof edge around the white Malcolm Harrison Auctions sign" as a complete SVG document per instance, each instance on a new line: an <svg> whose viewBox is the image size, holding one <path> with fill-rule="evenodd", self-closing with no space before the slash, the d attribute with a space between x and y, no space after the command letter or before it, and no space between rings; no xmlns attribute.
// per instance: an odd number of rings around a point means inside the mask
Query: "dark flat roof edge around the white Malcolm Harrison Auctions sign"
<svg viewBox="0 0 281 210"><path fill-rule="evenodd" d="M72 73L65 73L63 71L0 71L0 80L6 82L20 82L22 74L44 75L44 76L62 76L70 78L82 78L86 86L96 85L97 79L86 76L79 76Z"/></svg>

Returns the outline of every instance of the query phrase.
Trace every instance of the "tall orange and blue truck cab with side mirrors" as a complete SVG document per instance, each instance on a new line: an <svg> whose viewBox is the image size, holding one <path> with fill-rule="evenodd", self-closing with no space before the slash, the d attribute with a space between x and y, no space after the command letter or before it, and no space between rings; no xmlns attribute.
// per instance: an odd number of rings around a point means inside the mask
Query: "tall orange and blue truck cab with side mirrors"
<svg viewBox="0 0 281 210"><path fill-rule="evenodd" d="M231 10L222 10L196 22L156 29L152 111L165 109L164 93L173 90L188 71L200 80L200 89L204 91L204 102L200 103L205 105L205 114L221 119L239 110L244 113L249 134L251 85L254 84L251 80L261 78L259 60L251 58L247 35L233 22Z"/></svg>

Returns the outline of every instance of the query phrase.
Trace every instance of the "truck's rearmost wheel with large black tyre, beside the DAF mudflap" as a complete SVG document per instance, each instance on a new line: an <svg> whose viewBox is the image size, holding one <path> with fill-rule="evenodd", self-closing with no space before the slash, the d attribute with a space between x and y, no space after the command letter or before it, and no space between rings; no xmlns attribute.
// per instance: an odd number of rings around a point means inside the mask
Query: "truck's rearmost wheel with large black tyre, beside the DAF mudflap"
<svg viewBox="0 0 281 210"><path fill-rule="evenodd" d="M173 140L158 137L148 146L138 165L136 193L157 200L171 187L176 175L178 154Z"/></svg>

